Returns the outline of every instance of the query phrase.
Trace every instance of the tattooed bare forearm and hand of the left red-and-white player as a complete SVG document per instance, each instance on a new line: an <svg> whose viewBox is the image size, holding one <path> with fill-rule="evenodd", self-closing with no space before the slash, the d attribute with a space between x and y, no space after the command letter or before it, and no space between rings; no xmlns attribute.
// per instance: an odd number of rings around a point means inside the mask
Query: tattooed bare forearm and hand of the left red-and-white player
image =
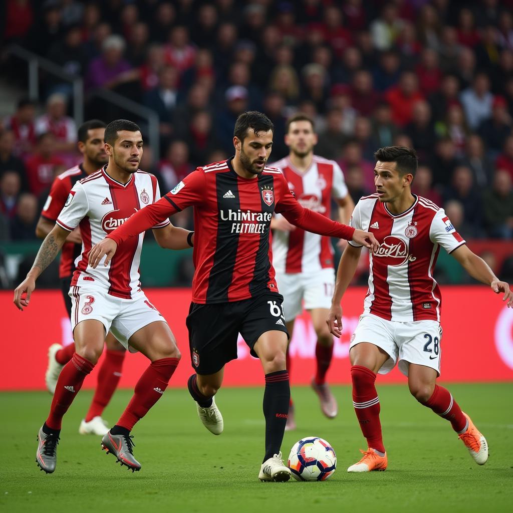
<svg viewBox="0 0 513 513"><path fill-rule="evenodd" d="M35 281L39 275L53 262L57 253L61 251L64 242L69 234L68 230L55 225L50 233L45 237L43 244L39 248L32 268L27 274L27 278L20 283L14 290L14 304L20 310L24 306L29 306L30 296L35 289Z"/></svg>

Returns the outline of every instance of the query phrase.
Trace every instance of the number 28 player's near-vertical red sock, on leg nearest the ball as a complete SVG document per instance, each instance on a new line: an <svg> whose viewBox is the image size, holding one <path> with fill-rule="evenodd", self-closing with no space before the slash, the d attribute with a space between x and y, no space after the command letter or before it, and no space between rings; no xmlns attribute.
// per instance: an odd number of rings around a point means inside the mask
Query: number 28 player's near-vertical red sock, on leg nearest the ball
<svg viewBox="0 0 513 513"><path fill-rule="evenodd" d="M376 374L367 367L351 367L353 406L369 448L385 452L380 422L380 400L374 386Z"/></svg>

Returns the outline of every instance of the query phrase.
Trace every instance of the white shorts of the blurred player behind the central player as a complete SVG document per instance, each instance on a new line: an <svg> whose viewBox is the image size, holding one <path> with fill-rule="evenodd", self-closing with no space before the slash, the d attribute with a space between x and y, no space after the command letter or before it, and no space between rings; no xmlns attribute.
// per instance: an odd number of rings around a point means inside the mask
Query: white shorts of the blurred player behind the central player
<svg viewBox="0 0 513 513"><path fill-rule="evenodd" d="M331 308L331 298L335 287L335 271L321 269L314 273L277 273L278 291L283 295L283 315L285 322L292 321L305 309Z"/></svg>

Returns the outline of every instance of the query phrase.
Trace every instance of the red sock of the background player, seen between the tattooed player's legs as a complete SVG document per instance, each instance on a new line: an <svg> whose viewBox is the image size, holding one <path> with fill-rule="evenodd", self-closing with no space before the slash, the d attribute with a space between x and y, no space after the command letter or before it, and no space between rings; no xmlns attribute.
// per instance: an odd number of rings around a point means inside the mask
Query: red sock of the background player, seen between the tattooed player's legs
<svg viewBox="0 0 513 513"><path fill-rule="evenodd" d="M112 351L110 349L105 351L105 358L98 371L98 383L86 415L86 422L90 422L94 417L101 416L103 410L109 404L121 379L125 354L126 351Z"/></svg>

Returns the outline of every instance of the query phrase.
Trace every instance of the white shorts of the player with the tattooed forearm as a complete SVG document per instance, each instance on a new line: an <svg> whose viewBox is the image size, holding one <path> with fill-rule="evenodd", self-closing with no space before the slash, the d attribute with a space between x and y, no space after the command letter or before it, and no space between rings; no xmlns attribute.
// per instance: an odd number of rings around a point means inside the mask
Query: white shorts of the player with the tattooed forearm
<svg viewBox="0 0 513 513"><path fill-rule="evenodd" d="M100 321L130 352L137 352L129 346L130 337L141 328L155 321L164 321L159 312L146 298L144 292L136 294L134 299L116 298L104 290L72 286L71 329L88 319Z"/></svg>

